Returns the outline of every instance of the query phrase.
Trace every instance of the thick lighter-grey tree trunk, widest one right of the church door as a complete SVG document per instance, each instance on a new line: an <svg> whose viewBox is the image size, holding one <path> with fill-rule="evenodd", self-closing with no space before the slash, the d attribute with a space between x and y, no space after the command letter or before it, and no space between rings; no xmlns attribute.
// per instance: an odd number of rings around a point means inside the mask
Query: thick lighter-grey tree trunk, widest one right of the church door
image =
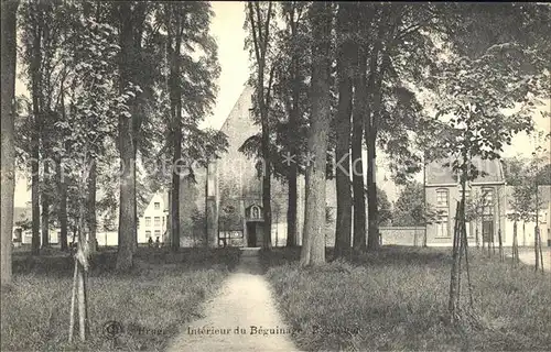
<svg viewBox="0 0 551 352"><path fill-rule="evenodd" d="M331 122L328 79L332 3L315 2L311 11L314 37L312 44L312 124L309 133L309 151L314 152L314 162L306 168L309 191L304 238L309 239L310 261L301 257L303 266L325 263L325 186Z"/></svg>

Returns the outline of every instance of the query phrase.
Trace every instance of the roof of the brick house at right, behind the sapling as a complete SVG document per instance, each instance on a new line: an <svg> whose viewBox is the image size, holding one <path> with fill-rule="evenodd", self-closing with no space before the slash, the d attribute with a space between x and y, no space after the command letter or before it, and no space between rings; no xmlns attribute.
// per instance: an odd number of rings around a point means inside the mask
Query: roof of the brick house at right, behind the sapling
<svg viewBox="0 0 551 352"><path fill-rule="evenodd" d="M439 160L426 165L426 184L457 184L457 176L454 175L452 167L443 166L451 160ZM505 180L504 169L498 160L483 160L474 157L472 165L480 173L473 183L503 183Z"/></svg>

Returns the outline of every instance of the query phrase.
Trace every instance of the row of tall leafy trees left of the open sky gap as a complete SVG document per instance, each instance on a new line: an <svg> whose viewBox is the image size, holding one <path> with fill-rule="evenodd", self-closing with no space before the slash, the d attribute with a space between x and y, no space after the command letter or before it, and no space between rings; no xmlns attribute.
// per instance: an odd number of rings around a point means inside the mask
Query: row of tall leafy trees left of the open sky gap
<svg viewBox="0 0 551 352"><path fill-rule="evenodd" d="M31 176L33 254L53 223L62 250L69 230L94 250L98 213L118 207L117 268L127 271L140 204L168 185L177 250L181 175L143 165L169 158L190 174L187 161L226 147L222 133L198 129L217 92L212 16L198 1L2 2L2 283L11 279L15 165ZM14 96L17 54L31 99Z"/></svg>

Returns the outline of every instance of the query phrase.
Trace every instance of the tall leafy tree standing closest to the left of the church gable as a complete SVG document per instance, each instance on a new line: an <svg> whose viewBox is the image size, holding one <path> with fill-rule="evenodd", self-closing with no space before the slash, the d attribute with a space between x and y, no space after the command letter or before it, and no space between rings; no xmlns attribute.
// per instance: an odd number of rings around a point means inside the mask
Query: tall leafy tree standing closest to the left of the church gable
<svg viewBox="0 0 551 352"><path fill-rule="evenodd" d="M169 221L171 248L177 251L183 221L180 213L183 201L181 184L184 179L195 182L194 162L198 161L198 165L206 167L205 161L216 158L226 146L222 133L198 129L198 123L212 111L215 102L219 66L217 46L209 33L210 4L201 1L163 3L155 8L154 15L166 33L160 34L156 42L165 55L162 59L165 72L160 75L163 81L158 87L169 96L168 100L160 99L168 139L159 153L170 153L173 163L169 182ZM154 33L149 36L154 43ZM147 133L152 132L150 128L151 122L148 122ZM143 143L147 145L145 139Z"/></svg>

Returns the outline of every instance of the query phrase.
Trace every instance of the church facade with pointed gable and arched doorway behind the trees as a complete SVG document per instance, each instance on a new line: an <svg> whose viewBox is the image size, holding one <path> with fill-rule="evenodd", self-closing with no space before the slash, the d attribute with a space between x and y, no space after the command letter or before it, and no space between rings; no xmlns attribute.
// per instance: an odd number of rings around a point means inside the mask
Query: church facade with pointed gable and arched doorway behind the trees
<svg viewBox="0 0 551 352"><path fill-rule="evenodd" d="M246 87L222 127L227 152L195 172L195 183L183 179L180 195L182 246L262 246L266 241L262 217L262 177L257 161L239 151L244 142L260 132L252 118L253 89ZM302 243L304 223L304 177L298 180L298 235ZM288 186L271 182L271 242L287 243ZM335 180L327 180L326 243L335 235ZM205 243L206 242L206 243Z"/></svg>

